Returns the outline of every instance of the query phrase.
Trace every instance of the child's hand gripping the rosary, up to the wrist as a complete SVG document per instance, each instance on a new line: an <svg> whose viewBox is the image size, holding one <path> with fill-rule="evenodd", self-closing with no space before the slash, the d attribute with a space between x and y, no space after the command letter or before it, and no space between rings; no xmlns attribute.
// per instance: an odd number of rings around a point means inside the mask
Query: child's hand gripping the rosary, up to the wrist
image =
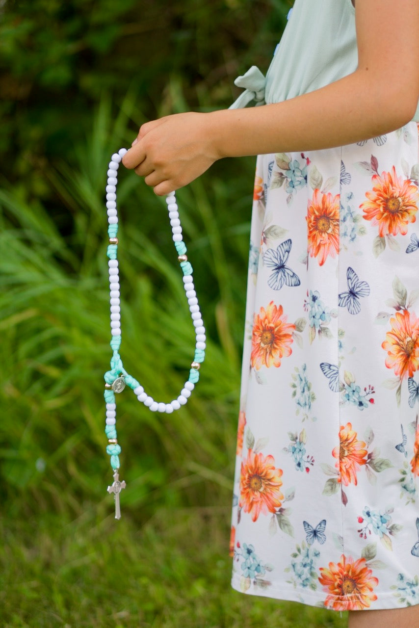
<svg viewBox="0 0 419 628"><path fill-rule="evenodd" d="M219 159L216 137L211 114L166 116L141 126L122 163L162 196L187 185Z"/></svg>

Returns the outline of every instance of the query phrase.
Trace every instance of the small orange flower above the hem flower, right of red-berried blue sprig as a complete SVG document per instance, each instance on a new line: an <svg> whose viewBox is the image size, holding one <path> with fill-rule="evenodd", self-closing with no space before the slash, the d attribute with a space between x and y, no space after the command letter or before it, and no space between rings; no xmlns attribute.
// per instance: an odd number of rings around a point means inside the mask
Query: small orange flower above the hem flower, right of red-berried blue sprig
<svg viewBox="0 0 419 628"><path fill-rule="evenodd" d="M339 460L335 465L337 470L339 470L337 481L342 482L345 486L357 484L356 473L367 462L366 443L362 440L357 440L356 437L357 433L352 430L351 423L341 425L339 431L340 445L332 451L333 457Z"/></svg>

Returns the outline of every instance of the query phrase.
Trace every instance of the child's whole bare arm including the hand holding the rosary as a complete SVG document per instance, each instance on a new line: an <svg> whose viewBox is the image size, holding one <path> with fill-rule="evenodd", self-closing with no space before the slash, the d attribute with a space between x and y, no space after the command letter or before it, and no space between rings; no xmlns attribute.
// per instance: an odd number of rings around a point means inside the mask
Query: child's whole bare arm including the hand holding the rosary
<svg viewBox="0 0 419 628"><path fill-rule="evenodd" d="M331 148L398 129L419 97L419 2L357 0L356 30L351 75L285 102L148 122L124 165L163 195L223 157Z"/></svg>

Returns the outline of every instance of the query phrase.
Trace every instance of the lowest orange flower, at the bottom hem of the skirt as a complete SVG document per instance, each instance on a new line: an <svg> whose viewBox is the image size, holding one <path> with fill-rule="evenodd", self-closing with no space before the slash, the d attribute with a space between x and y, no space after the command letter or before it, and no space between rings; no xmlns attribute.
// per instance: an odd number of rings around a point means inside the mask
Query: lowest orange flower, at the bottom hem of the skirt
<svg viewBox="0 0 419 628"><path fill-rule="evenodd" d="M369 609L377 596L373 588L378 578L373 577L365 558L354 561L351 556L340 556L340 563L329 563L329 569L320 567L318 582L329 593L324 605L333 610Z"/></svg>

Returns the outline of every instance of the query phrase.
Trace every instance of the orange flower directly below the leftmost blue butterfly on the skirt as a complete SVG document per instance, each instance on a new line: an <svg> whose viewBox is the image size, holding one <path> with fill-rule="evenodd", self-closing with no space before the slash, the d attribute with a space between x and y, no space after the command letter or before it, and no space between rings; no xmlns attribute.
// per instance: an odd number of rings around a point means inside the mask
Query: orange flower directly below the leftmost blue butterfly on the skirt
<svg viewBox="0 0 419 628"><path fill-rule="evenodd" d="M261 366L281 366L281 358L291 355L293 323L287 323L282 305L269 303L254 315L251 365L259 371Z"/></svg>

